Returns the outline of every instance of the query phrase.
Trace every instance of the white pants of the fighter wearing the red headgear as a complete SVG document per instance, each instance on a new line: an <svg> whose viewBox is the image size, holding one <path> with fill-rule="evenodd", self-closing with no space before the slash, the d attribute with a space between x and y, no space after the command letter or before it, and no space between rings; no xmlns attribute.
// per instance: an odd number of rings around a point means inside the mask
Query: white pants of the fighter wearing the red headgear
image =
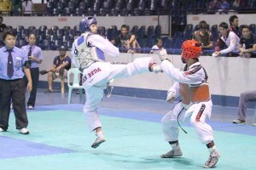
<svg viewBox="0 0 256 170"><path fill-rule="evenodd" d="M180 113L181 112L181 113ZM180 115L178 116L178 114ZM212 127L210 127L205 121L207 116L210 118L212 113L212 100L207 102L201 102L193 104L189 107L188 110L183 108L182 102L179 102L174 106L172 111L169 111L161 119L161 125L163 133L166 136L166 141L176 141L178 140L178 124L177 116L179 123L184 122L190 118L190 123L192 127L195 128L199 139L202 144L208 144L213 140Z"/></svg>

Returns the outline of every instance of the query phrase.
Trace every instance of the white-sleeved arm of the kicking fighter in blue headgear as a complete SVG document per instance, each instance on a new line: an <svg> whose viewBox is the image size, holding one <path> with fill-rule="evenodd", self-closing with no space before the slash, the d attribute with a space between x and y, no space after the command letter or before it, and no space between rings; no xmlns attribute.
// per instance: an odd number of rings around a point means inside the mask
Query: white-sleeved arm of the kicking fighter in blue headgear
<svg viewBox="0 0 256 170"><path fill-rule="evenodd" d="M90 35L87 42L91 42L93 46L101 49L105 54L109 54L112 57L119 57L119 48L116 48L108 39L98 34Z"/></svg>

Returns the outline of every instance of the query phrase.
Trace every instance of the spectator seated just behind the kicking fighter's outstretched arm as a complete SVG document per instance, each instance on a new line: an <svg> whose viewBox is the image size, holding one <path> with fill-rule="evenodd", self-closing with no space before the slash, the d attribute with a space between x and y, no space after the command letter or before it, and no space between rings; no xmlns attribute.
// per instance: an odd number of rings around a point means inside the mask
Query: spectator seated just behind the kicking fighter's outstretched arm
<svg viewBox="0 0 256 170"><path fill-rule="evenodd" d="M121 50L123 53L137 53L137 48L140 48L134 34L128 31L129 26L121 26L121 33L117 38L111 42L118 48L124 48Z"/></svg>

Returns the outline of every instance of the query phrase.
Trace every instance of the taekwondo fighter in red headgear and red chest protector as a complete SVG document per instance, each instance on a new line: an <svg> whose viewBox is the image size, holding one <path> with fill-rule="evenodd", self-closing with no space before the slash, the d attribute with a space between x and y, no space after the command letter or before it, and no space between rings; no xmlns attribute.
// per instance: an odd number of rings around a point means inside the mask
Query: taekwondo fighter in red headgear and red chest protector
<svg viewBox="0 0 256 170"><path fill-rule="evenodd" d="M201 55L201 43L187 40L183 42L182 48L181 59L186 64L183 71L175 68L167 59L166 50L160 50L159 53L160 68L175 81L172 88L168 90L166 100L172 102L177 96L181 96L182 99L161 120L166 141L172 146L172 150L161 157L183 156L178 143L178 121L183 122L189 118L201 143L206 144L210 152L210 157L204 167L212 168L218 162L220 153L213 142L212 127L205 122L212 113L212 100L207 83L207 71L201 66L198 59Z"/></svg>

